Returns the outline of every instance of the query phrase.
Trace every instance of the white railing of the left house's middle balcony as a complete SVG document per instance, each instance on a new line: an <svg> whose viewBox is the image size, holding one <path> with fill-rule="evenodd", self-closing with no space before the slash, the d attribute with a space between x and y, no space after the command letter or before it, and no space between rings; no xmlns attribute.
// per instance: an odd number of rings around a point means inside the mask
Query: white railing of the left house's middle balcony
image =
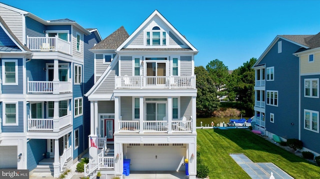
<svg viewBox="0 0 320 179"><path fill-rule="evenodd" d="M69 79L71 81L71 79ZM27 78L27 93L69 93L71 82L67 81L29 81Z"/></svg>

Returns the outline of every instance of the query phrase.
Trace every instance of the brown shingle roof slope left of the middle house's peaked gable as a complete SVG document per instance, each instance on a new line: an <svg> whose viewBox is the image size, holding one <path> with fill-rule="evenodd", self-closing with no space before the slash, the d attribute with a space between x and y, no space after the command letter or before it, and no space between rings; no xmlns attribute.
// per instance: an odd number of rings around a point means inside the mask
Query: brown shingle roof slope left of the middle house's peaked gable
<svg viewBox="0 0 320 179"><path fill-rule="evenodd" d="M104 38L101 42L96 44L91 49L97 50L97 49L116 49L119 47L125 39L129 37L129 34L126 32L123 26L116 29L113 33L111 33L109 36Z"/></svg>

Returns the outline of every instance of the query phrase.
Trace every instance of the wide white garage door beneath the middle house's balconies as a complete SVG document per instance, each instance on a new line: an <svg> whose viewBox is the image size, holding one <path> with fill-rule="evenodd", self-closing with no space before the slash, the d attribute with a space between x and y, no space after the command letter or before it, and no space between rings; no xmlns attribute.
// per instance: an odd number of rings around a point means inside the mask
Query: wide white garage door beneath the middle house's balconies
<svg viewBox="0 0 320 179"><path fill-rule="evenodd" d="M132 144L126 149L131 171L184 171L183 144Z"/></svg>

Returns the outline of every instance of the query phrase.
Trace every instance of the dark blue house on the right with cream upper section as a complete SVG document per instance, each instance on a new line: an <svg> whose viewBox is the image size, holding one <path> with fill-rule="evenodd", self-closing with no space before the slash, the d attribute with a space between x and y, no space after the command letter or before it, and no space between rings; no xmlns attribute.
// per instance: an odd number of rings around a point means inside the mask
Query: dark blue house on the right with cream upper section
<svg viewBox="0 0 320 179"><path fill-rule="evenodd" d="M316 146L311 144L310 132L318 135L318 122L314 129L310 127L312 115L315 119L315 111L319 111L311 107L318 104L318 95L313 96L318 90L318 76L308 76L316 74L316 63L305 61L306 55L312 53L308 51L314 48L313 44L319 43L317 36L277 35L252 68L255 69L255 127L268 137L277 135L284 141L299 139L305 150L316 149L313 152L318 154L320 148L310 147ZM308 120L304 120L306 116Z"/></svg>

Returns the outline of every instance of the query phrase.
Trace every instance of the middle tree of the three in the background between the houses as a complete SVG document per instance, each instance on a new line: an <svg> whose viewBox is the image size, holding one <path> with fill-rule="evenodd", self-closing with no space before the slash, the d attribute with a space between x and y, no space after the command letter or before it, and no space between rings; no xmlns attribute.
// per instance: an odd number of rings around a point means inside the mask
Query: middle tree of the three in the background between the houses
<svg viewBox="0 0 320 179"><path fill-rule="evenodd" d="M217 90L219 97L226 95L225 84L229 76L228 67L222 61L215 59L206 65L206 70L213 80L214 88Z"/></svg>

